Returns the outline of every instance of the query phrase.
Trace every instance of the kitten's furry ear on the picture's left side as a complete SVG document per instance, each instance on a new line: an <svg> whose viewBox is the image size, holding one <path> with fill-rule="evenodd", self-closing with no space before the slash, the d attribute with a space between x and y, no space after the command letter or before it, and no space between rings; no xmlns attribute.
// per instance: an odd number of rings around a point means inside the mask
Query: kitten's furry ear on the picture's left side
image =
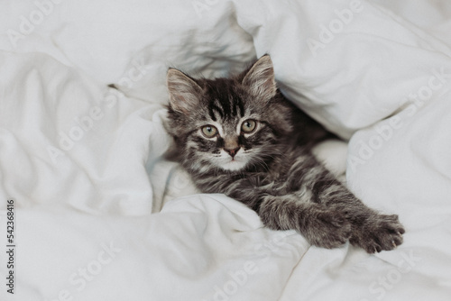
<svg viewBox="0 0 451 301"><path fill-rule="evenodd" d="M194 80L175 68L166 77L170 94L170 107L179 113L189 114L199 105L202 88Z"/></svg>

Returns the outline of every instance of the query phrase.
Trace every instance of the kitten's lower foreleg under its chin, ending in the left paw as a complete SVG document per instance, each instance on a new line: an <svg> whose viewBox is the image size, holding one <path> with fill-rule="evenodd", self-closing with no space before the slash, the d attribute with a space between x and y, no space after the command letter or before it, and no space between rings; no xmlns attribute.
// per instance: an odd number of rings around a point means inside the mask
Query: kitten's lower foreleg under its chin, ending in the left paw
<svg viewBox="0 0 451 301"><path fill-rule="evenodd" d="M267 182L265 175L249 175L230 182L226 177L210 181L209 192L221 191L251 207L262 223L274 230L293 229L318 247L336 248L351 234L345 214L311 202L311 193L287 194L283 183ZM207 190L208 191L208 190Z"/></svg>

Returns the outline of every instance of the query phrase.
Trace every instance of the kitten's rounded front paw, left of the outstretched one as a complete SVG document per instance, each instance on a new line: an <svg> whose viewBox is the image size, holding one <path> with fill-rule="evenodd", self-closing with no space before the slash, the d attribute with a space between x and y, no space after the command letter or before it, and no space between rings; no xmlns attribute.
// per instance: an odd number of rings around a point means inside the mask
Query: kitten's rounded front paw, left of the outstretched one
<svg viewBox="0 0 451 301"><path fill-rule="evenodd" d="M311 244L333 249L343 245L351 236L351 223L345 215L325 212L312 218L307 224L306 238Z"/></svg>

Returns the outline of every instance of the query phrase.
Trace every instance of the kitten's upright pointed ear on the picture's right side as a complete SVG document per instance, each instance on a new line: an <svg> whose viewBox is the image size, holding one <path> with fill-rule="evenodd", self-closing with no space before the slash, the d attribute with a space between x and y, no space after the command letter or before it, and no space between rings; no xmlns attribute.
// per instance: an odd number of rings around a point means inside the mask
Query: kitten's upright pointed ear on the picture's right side
<svg viewBox="0 0 451 301"><path fill-rule="evenodd" d="M251 93L262 100L270 100L276 95L277 87L274 78L272 60L268 54L258 59L243 78L243 85Z"/></svg>

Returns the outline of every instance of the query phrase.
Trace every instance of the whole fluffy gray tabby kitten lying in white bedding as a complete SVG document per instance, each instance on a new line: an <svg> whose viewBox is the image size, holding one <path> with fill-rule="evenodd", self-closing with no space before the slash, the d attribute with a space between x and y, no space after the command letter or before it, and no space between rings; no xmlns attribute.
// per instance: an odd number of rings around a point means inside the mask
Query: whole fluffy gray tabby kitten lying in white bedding
<svg viewBox="0 0 451 301"><path fill-rule="evenodd" d="M349 240L369 253L402 243L398 215L364 205L311 153L329 137L284 98L268 55L233 78L190 78L170 68L168 132L179 162L204 193L251 207L264 225L313 245Z"/></svg>

